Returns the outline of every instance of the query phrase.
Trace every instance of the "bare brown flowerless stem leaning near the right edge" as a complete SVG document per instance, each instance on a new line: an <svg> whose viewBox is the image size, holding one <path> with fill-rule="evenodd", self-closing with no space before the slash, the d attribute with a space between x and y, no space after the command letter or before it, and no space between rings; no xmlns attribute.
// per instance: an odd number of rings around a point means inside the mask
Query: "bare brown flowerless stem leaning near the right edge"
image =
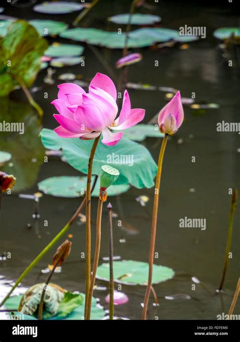
<svg viewBox="0 0 240 342"><path fill-rule="evenodd" d="M234 212L236 209L236 204L237 204L237 189L233 190L232 194L232 200L231 200L231 205L230 205L230 213L229 213L229 221L228 221L228 233L227 233L227 244L226 244L226 250L225 250L225 258L224 258L224 265L223 265L223 273L222 273L222 279L218 288L218 291L222 290L226 272L227 272L227 267L228 267L228 262L229 262L229 252L231 248L231 240L232 240L232 226L233 226L233 216Z"/></svg>

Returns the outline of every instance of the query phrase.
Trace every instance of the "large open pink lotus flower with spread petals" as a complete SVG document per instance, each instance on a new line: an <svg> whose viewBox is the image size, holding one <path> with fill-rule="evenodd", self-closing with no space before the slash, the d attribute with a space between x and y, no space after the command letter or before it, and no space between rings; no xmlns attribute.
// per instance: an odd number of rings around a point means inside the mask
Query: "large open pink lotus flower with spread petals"
<svg viewBox="0 0 240 342"><path fill-rule="evenodd" d="M125 91L123 107L116 119L116 88L109 77L99 72L89 85L89 93L74 83L60 84L58 88L58 99L52 104L59 112L54 114L60 124L55 132L62 138L94 139L102 132L102 143L114 146L123 132L111 130L132 127L144 118L144 109L131 109L129 94Z"/></svg>

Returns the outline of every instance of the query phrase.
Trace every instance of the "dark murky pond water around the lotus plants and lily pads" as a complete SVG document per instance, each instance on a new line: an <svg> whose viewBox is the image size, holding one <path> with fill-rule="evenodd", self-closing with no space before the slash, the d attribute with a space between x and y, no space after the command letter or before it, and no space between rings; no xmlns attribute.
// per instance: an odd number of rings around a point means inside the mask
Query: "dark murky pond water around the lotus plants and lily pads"
<svg viewBox="0 0 240 342"><path fill-rule="evenodd" d="M100 4L101 3L101 4ZM113 3L113 4L112 4ZM111 2L100 0L99 4L81 22L82 27L110 28L106 18L129 11L130 2ZM145 10L146 11L146 10ZM147 11L146 11L147 12ZM153 12L152 12L153 13ZM31 8L15 8L8 6L5 15L23 19L43 19L44 14L34 13ZM179 132L169 139L164 160L159 215L157 222L157 237L155 251L159 258L156 264L166 265L176 272L176 276L167 282L154 285L159 299L159 307L153 307L150 299L149 319L216 319L218 314L227 313L239 275L239 206L235 212L232 259L229 262L222 294L216 294L223 268L224 251L227 236L228 215L231 195L228 189L239 189L239 148L240 139L237 133L219 133L216 124L221 121L239 121L239 50L231 49L233 66L229 67L226 59L217 48L219 43L213 37L213 31L218 27L237 26L237 15L228 8L219 9L187 3L170 3L161 1L156 6L154 14L162 17L163 27L178 29L184 24L206 26L206 39L189 43L186 49L165 47L162 49L133 49L141 52L143 60L129 68L129 81L151 84L157 87L173 87L181 91L183 97L196 94L196 103L217 103L219 108L196 110L184 107L185 122ZM71 23L76 13L48 16L49 19ZM114 26L116 27L116 26ZM134 28L134 27L132 27ZM64 42L59 37L49 38L50 42ZM72 42L75 44L75 42ZM78 44L78 43L76 43ZM53 118L54 107L50 102L57 97L57 84L62 81L58 76L73 72L81 75L82 80L89 81L96 72L108 73L96 57L95 50L113 68L115 61L122 56L121 50L105 48L92 49L85 45L85 67L80 65L56 68L53 75L54 85L43 83L46 69L39 72L35 87L40 90L33 93L35 100L44 109L43 126L55 128ZM237 55L238 53L238 55ZM155 60L159 66L154 66ZM118 70L114 71L118 74ZM237 91L238 90L238 91ZM48 92L48 99L44 98ZM144 123L156 115L165 103L165 93L158 90L129 89L132 107L146 109ZM37 120L34 110L28 106L22 91L17 90L11 95L12 116L23 118L26 127L24 135L5 136L1 139L1 149L7 150L7 144L14 151L14 161L18 162L18 185L11 196L3 198L3 210L0 219L1 239L0 251L11 252L11 258L0 261L1 295L6 291L6 283L14 281L24 268L33 260L51 239L65 225L79 205L81 199L64 199L44 195L40 199L38 220L32 218L34 203L32 200L19 198L21 194L34 194L37 183L51 176L77 176L78 172L59 157L50 157L48 163L43 163L45 148L37 137ZM1 99L0 99L1 100ZM24 105L18 102L24 102ZM9 108L9 106L8 106ZM17 109L16 109L17 108ZM9 110L9 109L8 109ZM1 101L1 121L6 116L11 117L7 110L6 100ZM19 111L19 114L18 114ZM13 118L11 117L11 118ZM161 139L147 138L143 144L149 149L155 161L157 160ZM195 163L191 162L195 156ZM12 166L14 173L15 166ZM8 171L11 167L8 166ZM154 188L131 189L119 196L110 198L113 211L118 214L113 219L114 255L122 259L139 261L148 260L151 210ZM139 196L149 197L143 207L136 200ZM95 219L97 199L92 199L92 241L95 241ZM199 228L180 228L179 219L205 218L206 230ZM122 219L123 227L118 227L117 220ZM44 225L48 220L48 226ZM100 263L108 255L107 210L103 211L102 245ZM63 265L62 272L55 274L52 282L71 291L84 292L85 261L81 252L85 250L85 225L75 222L69 234L72 234L71 254ZM63 241L63 239L62 239ZM56 246L57 247L57 246ZM94 250L94 245L92 251ZM29 273L22 282L23 286L31 286L45 282L47 275L41 270L51 263L55 248L50 251ZM201 283L195 284L191 277L197 277ZM103 281L97 281L100 286L106 286ZM115 285L117 288L117 285ZM115 315L139 319L141 303L143 302L144 286L122 286L122 291L129 296L125 305L115 307ZM18 290L15 291L16 293ZM189 295L191 299L166 299L165 296L175 294ZM108 308L105 302L106 290L95 290L94 296L100 298L101 305ZM239 313L239 301L234 313Z"/></svg>

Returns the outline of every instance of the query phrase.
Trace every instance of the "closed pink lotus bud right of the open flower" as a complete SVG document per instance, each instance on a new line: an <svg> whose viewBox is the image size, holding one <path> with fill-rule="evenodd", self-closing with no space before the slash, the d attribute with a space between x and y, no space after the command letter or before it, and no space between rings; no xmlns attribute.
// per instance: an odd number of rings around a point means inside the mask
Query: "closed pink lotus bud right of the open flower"
<svg viewBox="0 0 240 342"><path fill-rule="evenodd" d="M159 112L158 126L159 131L164 134L174 134L182 125L184 118L181 95L178 91L172 100Z"/></svg>

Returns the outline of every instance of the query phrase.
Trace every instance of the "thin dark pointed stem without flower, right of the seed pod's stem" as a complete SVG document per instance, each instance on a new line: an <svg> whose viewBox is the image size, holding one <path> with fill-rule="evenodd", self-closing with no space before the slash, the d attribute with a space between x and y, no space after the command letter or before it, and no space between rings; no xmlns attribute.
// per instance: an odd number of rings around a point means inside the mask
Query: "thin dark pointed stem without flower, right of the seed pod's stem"
<svg viewBox="0 0 240 342"><path fill-rule="evenodd" d="M108 239L109 239L109 320L114 316L114 281L113 281L113 237L112 237L112 206L108 209Z"/></svg>

